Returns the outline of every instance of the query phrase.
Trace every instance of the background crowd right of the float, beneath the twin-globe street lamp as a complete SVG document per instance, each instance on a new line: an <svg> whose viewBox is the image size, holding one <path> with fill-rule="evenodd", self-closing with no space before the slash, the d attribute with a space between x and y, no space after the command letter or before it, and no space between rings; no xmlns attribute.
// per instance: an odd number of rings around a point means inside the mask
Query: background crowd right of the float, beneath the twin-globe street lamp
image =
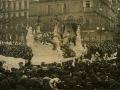
<svg viewBox="0 0 120 90"><path fill-rule="evenodd" d="M101 42L82 42L83 44L87 44L87 58L91 58L92 54L96 54L98 52L100 54L100 57L102 58L105 54L108 54L109 57L111 56L117 56L120 55L120 42L115 41L105 41ZM117 54L118 53L118 54Z"/></svg>

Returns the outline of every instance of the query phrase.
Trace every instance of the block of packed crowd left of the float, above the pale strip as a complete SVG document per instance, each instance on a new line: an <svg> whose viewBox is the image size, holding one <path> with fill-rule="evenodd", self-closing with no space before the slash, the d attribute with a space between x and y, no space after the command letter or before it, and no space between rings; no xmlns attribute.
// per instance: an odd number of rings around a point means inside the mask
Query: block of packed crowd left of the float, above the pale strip
<svg viewBox="0 0 120 90"><path fill-rule="evenodd" d="M0 45L0 55L6 57L23 58L31 60L33 57L32 49L27 45Z"/></svg>

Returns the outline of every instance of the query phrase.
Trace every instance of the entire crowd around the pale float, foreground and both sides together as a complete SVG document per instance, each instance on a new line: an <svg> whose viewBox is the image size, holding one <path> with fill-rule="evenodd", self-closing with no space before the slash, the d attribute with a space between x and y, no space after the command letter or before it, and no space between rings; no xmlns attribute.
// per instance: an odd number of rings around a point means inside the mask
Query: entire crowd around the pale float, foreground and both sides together
<svg viewBox="0 0 120 90"><path fill-rule="evenodd" d="M87 55L62 64L42 62L35 66L26 61L25 65L21 62L19 68L9 71L0 62L0 90L119 90L119 43L88 42L86 45ZM33 56L32 50L24 45L1 45L0 54L26 59Z"/></svg>

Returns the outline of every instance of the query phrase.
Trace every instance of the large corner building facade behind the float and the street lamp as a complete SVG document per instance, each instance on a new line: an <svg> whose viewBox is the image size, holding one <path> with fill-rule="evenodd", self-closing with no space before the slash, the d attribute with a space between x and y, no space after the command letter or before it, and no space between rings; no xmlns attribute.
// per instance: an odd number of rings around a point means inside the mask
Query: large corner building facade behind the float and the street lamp
<svg viewBox="0 0 120 90"><path fill-rule="evenodd" d="M64 22L67 15L82 16L83 40L113 40L119 32L120 0L29 0L29 23L34 25L40 16L46 27L54 16ZM42 22L41 22L42 23ZM50 29L50 28L48 28ZM52 29L52 28L51 28Z"/></svg>

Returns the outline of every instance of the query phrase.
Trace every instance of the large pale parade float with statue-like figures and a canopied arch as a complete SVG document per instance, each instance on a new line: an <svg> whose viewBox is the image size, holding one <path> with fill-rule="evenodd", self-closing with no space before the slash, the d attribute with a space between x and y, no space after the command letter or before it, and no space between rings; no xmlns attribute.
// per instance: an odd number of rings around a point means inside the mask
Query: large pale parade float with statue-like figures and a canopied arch
<svg viewBox="0 0 120 90"><path fill-rule="evenodd" d="M41 62L61 63L79 58L83 52L80 36L81 20L81 17L76 20L72 15L68 15L64 19L64 25L61 25L60 20L55 18L53 32L47 33L41 32L42 22L36 23L35 30L28 27L26 40L33 52L31 63L34 65L40 65ZM76 30L73 30L72 24L75 23Z"/></svg>

